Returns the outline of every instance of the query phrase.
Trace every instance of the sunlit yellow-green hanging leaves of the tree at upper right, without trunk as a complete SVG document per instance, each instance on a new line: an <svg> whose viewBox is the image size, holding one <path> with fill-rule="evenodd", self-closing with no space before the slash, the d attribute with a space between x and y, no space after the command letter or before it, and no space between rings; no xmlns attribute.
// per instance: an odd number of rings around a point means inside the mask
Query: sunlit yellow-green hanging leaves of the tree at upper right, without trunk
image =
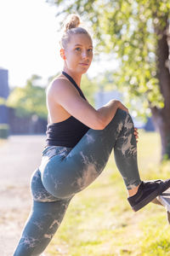
<svg viewBox="0 0 170 256"><path fill-rule="evenodd" d="M88 20L88 26L94 29L97 50L116 53L120 68L114 79L119 90L126 87L127 97L142 96L144 108L163 108L156 50L157 41L163 36L159 31L165 32L170 18L168 0L47 2L59 7L58 14L82 15L84 20Z"/></svg>

